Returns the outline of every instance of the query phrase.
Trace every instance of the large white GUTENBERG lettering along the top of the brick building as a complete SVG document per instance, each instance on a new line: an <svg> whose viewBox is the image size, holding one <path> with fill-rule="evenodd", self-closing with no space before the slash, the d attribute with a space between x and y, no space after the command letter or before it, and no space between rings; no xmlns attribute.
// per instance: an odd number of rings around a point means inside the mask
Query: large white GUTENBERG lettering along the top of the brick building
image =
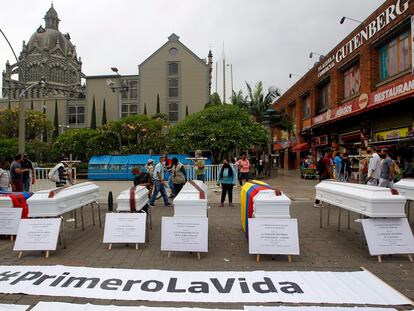
<svg viewBox="0 0 414 311"><path fill-rule="evenodd" d="M318 78L330 71L339 64L365 42L380 33L389 23L396 20L400 15L404 14L409 7L410 0L398 0L395 4L388 6L375 19L361 29L354 37L342 45L338 50L332 53L318 67Z"/></svg>

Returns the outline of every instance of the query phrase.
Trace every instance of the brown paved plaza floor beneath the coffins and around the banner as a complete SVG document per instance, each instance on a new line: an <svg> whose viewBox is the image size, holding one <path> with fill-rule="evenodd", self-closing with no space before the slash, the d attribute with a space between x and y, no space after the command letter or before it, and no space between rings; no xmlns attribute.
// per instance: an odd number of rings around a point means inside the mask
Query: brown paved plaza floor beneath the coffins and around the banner
<svg viewBox="0 0 414 311"><path fill-rule="evenodd" d="M291 216L298 219L300 256L294 256L288 263L286 256L262 256L260 262L249 255L248 243L241 230L240 205L219 207L219 192L209 189L209 252L197 260L195 254L173 253L170 258L160 252L160 224L162 216L172 216L173 208L164 208L158 202L152 209L153 228L150 230L150 242L140 245L114 245L112 250L102 243L103 228L92 225L89 208L84 209L85 231L75 229L73 223L67 224L67 248L58 246L56 252L46 259L39 252L24 253L17 258L13 252L13 242L6 238L0 240L1 265L70 265L105 268L162 269L162 270L315 270L315 271L356 271L364 267L382 280L399 290L410 299L414 299L414 263L407 256L384 256L378 263L376 257L369 256L366 246L361 248L361 225L351 214L350 229L346 228L346 217L342 217L340 232L337 228L338 210L331 209L331 224L319 227L319 209L313 207L315 180L303 180L297 172L279 172L277 177L267 180L271 185L282 189L291 199ZM114 197L130 185L129 182L98 182L101 187L101 201L106 203L108 191ZM235 189L235 203L239 202L239 190ZM102 211L107 205L102 204ZM103 213L104 214L104 213ZM342 213L346 215L346 213ZM102 217L104 219L104 215ZM411 220L413 228L413 220ZM168 303L149 301L112 301L104 299L86 299L76 297L49 297L22 294L1 294L0 303L18 303L34 305L38 301L61 301L94 304L146 305L174 307L238 308L243 304L218 303Z"/></svg>

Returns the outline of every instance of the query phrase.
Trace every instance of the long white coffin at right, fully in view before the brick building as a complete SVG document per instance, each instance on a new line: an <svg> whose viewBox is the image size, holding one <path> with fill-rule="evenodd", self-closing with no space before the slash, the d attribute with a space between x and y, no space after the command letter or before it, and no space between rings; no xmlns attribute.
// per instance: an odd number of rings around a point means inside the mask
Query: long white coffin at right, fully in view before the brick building
<svg viewBox="0 0 414 311"><path fill-rule="evenodd" d="M368 217L406 217L406 199L389 188L326 180L315 189L316 199Z"/></svg>

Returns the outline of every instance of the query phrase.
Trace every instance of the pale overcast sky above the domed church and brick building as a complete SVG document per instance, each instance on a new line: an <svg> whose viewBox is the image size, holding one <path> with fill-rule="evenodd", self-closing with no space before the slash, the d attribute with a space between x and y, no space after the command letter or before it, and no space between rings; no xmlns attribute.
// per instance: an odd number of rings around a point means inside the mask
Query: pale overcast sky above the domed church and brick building
<svg viewBox="0 0 414 311"><path fill-rule="evenodd" d="M209 48L221 63L233 65L235 90L246 92L245 82L263 81L265 88L288 89L315 59L325 54L357 24L342 16L364 20L381 0L55 0L59 30L69 32L82 57L86 75L136 74L137 66L176 33L200 58ZM0 28L16 53L39 25L51 1L1 0ZM0 37L0 68L13 55ZM215 69L215 68L214 68ZM226 93L231 93L230 67ZM218 91L222 94L222 70ZM213 73L212 89L216 81Z"/></svg>

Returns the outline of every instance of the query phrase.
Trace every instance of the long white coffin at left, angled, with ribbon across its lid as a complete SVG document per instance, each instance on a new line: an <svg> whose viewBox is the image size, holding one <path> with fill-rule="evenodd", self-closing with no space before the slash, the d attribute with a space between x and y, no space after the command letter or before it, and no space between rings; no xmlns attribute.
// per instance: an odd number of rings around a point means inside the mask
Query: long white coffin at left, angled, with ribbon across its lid
<svg viewBox="0 0 414 311"><path fill-rule="evenodd" d="M56 188L38 191L27 199L29 217L57 217L95 202L99 196L99 187L92 182L69 186L49 198L53 190Z"/></svg>

